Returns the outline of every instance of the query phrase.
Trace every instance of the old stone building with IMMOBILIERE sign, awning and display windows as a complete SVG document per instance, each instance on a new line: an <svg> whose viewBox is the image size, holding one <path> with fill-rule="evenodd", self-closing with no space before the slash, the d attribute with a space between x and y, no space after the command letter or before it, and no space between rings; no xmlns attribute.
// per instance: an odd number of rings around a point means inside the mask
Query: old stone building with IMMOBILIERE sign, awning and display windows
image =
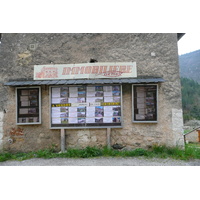
<svg viewBox="0 0 200 200"><path fill-rule="evenodd" d="M1 34L0 149L184 145L179 36Z"/></svg>

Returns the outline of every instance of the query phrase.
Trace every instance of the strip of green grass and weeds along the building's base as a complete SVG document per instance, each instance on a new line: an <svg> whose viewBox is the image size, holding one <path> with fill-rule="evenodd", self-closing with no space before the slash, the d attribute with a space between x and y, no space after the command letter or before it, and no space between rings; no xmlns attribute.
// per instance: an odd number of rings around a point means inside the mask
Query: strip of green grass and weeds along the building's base
<svg viewBox="0 0 200 200"><path fill-rule="evenodd" d="M30 158L92 158L92 157L136 157L146 158L173 158L181 160L200 159L200 146L187 144L185 149L178 147L153 146L150 150L138 148L131 151L114 150L107 147L87 147L85 149L68 149L65 153L58 153L49 148L29 153L0 153L0 162L6 160L26 160Z"/></svg>

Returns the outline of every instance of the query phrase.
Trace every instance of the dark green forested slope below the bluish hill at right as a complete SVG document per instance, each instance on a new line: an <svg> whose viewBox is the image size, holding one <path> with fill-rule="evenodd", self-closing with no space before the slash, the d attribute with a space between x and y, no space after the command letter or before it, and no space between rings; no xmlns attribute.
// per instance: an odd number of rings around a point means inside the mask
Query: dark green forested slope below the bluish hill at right
<svg viewBox="0 0 200 200"><path fill-rule="evenodd" d="M200 120L200 85L188 78L181 78L184 121Z"/></svg>

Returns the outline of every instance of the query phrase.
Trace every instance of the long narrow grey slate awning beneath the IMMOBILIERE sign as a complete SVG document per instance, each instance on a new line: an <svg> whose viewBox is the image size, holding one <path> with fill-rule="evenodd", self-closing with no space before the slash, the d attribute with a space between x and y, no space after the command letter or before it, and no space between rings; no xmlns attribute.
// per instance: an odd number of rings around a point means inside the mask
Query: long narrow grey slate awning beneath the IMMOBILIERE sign
<svg viewBox="0 0 200 200"><path fill-rule="evenodd" d="M165 80L161 77L137 77L117 79L71 79L71 80L13 80L5 83L6 86L38 86L38 85L88 85L88 84L146 84L159 83Z"/></svg>

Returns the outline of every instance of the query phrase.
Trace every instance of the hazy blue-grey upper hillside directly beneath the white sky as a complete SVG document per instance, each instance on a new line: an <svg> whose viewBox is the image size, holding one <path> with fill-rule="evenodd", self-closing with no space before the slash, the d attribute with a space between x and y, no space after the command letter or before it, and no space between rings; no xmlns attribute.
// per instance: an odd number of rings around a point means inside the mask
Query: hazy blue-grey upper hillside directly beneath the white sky
<svg viewBox="0 0 200 200"><path fill-rule="evenodd" d="M179 56L181 77L200 83L200 50Z"/></svg>

